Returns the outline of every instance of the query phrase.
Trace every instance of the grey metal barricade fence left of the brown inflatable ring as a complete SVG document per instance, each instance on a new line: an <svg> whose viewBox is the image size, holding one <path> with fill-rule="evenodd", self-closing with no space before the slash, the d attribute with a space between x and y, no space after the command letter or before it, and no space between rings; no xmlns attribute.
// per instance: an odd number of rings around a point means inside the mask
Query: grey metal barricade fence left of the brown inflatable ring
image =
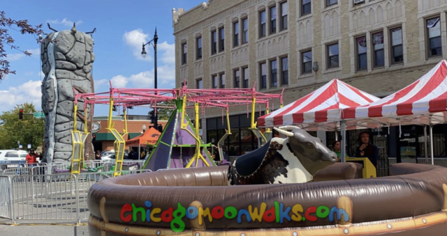
<svg viewBox="0 0 447 236"><path fill-rule="evenodd" d="M121 171L121 175L151 172ZM13 223L80 223L87 221L90 187L112 178L110 172L0 176L0 217ZM6 203L6 204L5 204Z"/></svg>

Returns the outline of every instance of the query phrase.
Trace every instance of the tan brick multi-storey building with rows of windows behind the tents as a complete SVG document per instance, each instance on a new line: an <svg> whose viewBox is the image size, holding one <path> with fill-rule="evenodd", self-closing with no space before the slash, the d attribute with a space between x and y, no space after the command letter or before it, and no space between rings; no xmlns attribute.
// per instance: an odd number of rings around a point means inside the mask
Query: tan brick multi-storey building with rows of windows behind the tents
<svg viewBox="0 0 447 236"><path fill-rule="evenodd" d="M435 0L210 0L173 9L176 86L184 79L189 88L256 83L266 93L284 88L288 104L337 78L385 97L446 57L446 10L446 1ZM240 155L247 111L230 112L235 133L227 144L230 155ZM224 132L221 111L202 118L205 141L215 142ZM390 129L373 131L381 157L416 162L425 155L422 127L402 127L402 136ZM446 157L446 131L435 127L435 157ZM350 132L351 152L357 134ZM327 145L334 136L315 135Z"/></svg>

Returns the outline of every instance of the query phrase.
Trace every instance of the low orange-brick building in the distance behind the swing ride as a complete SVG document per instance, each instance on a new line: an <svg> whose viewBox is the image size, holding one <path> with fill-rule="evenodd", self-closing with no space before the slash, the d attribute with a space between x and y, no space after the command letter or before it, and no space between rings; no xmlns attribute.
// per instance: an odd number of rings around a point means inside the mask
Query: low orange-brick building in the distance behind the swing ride
<svg viewBox="0 0 447 236"><path fill-rule="evenodd" d="M96 136L95 140L93 141L95 152L96 150L105 151L112 150L114 148L113 143L115 141L115 137L110 131L107 130L107 122L107 116L97 116L93 118L91 134ZM117 129L118 132L123 132L125 124L123 116L113 116L112 123L115 123L115 129ZM163 129L166 123L167 120L158 120L158 124L161 125ZM124 139L127 141L142 134L143 125L146 125L146 130L153 127L151 121L147 120L147 116L129 115L129 120L127 120L127 132L129 134L124 136ZM129 148L126 147L126 150L129 150Z"/></svg>

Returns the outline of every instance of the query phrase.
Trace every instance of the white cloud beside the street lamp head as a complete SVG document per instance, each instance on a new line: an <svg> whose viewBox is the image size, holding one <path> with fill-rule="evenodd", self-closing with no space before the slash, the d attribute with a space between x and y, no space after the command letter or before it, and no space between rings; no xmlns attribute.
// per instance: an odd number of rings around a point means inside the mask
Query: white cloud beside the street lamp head
<svg viewBox="0 0 447 236"><path fill-rule="evenodd" d="M134 29L133 31L129 31L124 33L123 41L126 45L129 45L133 49L133 56L140 60L153 61L154 58L150 55L149 47L146 46L147 56L146 58L142 58L142 44L149 42L149 35L144 33L142 29ZM152 47L152 46L150 46ZM148 52L149 51L149 52Z"/></svg>

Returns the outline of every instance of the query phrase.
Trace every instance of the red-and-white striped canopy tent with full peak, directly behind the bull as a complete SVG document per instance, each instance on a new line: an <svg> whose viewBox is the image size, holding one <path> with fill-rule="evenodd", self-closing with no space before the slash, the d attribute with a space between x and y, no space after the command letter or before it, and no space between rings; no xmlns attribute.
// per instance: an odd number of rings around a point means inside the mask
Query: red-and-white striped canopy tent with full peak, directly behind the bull
<svg viewBox="0 0 447 236"><path fill-rule="evenodd" d="M285 107L258 118L258 127L296 125L307 130L334 131L339 129L342 110L359 107L379 100L338 79L332 79L316 91ZM369 126L367 126L369 127ZM346 123L346 129L366 128L358 122Z"/></svg>

